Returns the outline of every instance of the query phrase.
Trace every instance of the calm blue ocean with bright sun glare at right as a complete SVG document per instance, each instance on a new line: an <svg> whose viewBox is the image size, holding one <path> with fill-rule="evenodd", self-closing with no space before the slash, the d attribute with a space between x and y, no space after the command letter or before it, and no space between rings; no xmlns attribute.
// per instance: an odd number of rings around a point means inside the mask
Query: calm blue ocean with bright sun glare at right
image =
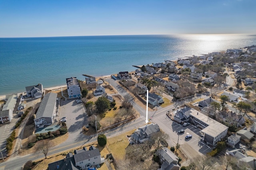
<svg viewBox="0 0 256 170"><path fill-rule="evenodd" d="M132 71L192 55L256 45L246 35L116 35L0 38L0 95L66 84L71 76L102 76Z"/></svg>

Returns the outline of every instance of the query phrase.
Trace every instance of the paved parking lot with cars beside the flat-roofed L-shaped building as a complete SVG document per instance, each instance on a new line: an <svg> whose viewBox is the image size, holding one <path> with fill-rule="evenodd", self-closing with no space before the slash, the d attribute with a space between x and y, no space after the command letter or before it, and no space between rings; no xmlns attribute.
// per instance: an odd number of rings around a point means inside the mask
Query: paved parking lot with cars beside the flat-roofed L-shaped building
<svg viewBox="0 0 256 170"><path fill-rule="evenodd" d="M180 148L188 156L188 158L194 158L198 154L206 154L212 150L211 147L206 145L203 141L200 141L200 129L195 128L193 125L188 125L186 127L170 120L166 115L157 115L153 120L158 123L159 127L168 133L170 139L172 140L172 145L176 143L180 144ZM178 135L178 131L184 129L184 133ZM191 139L185 139L186 135L192 135ZM172 147L172 146L171 146ZM198 154L195 154L195 151Z"/></svg>

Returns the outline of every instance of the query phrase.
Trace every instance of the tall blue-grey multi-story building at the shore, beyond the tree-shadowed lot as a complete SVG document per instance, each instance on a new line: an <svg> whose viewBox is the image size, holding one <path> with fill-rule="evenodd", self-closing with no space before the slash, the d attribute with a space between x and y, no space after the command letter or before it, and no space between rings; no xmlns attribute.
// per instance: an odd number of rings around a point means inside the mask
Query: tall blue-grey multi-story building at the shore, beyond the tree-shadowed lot
<svg viewBox="0 0 256 170"><path fill-rule="evenodd" d="M81 98L81 88L76 77L66 78L68 97Z"/></svg>

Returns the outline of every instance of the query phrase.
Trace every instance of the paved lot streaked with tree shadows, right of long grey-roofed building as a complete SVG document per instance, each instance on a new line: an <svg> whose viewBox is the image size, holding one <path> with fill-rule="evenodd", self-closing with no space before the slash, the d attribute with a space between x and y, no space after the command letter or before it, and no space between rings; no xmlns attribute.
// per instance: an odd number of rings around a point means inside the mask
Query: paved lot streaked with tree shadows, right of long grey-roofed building
<svg viewBox="0 0 256 170"><path fill-rule="evenodd" d="M66 117L66 125L68 127L67 141L74 141L82 132L82 127L86 125L86 111L82 103L77 103L76 100L63 100L61 103L61 111L59 120Z"/></svg>

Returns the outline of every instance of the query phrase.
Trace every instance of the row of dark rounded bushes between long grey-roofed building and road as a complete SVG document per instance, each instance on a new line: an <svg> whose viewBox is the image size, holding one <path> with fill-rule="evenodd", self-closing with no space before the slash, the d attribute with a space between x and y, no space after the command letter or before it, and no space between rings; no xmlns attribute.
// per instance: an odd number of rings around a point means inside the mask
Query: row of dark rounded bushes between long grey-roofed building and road
<svg viewBox="0 0 256 170"><path fill-rule="evenodd" d="M63 124L62 124L63 125ZM66 123L65 123L66 125ZM48 133L40 133L40 134L36 134L36 141L28 143L28 147L32 148L36 145L37 141L43 140L43 139L48 139L48 138L54 138L54 137L58 137L59 135L64 135L68 132L68 128L66 127L61 127L60 129L56 130L56 131L48 131Z"/></svg>

